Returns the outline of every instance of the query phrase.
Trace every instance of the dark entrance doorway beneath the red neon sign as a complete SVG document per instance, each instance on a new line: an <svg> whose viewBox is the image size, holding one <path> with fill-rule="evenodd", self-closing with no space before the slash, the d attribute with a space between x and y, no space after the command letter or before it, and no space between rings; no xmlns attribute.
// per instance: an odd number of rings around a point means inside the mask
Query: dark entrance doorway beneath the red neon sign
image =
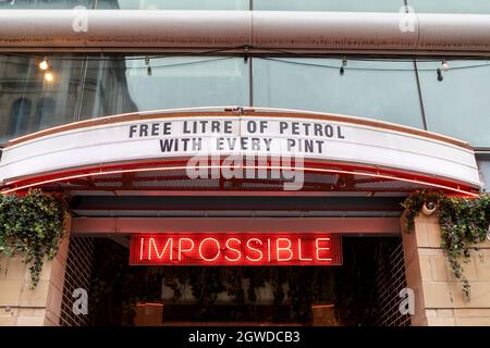
<svg viewBox="0 0 490 348"><path fill-rule="evenodd" d="M77 249L83 252L77 254ZM397 312L397 294L405 287L401 239L344 237L343 253L342 266L130 266L128 250L114 240L72 237L62 322L409 324L409 316ZM84 265L87 270L81 272ZM89 315L83 323L70 322L71 288L81 282L79 276L73 277L75 273L85 275L89 288Z"/></svg>

